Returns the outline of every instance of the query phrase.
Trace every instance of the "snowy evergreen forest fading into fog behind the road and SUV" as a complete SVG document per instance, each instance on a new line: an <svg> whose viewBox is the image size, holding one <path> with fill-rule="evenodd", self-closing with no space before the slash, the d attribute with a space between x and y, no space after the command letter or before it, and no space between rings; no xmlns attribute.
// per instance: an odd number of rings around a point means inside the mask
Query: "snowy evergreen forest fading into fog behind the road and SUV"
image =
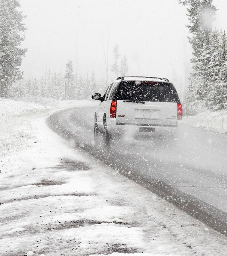
<svg viewBox="0 0 227 256"><path fill-rule="evenodd" d="M213 28L217 8L212 0L178 2L186 6L189 20L186 27L192 47L192 70L187 84L181 85L184 88L181 95L184 113L193 115L204 108L213 111L227 109L227 36L224 30ZM87 74L78 72L78 63L71 60L65 64L64 71L56 72L46 66L43 75L24 77L20 67L29 49L21 47L27 27L19 7L18 0L0 0L0 97L89 99L94 92L105 91L111 82L108 72L113 72L115 78L134 75L130 72L126 55L119 53L115 44L110 49L113 63L108 62L108 52L105 53L103 46L105 72L101 79L94 71Z"/></svg>

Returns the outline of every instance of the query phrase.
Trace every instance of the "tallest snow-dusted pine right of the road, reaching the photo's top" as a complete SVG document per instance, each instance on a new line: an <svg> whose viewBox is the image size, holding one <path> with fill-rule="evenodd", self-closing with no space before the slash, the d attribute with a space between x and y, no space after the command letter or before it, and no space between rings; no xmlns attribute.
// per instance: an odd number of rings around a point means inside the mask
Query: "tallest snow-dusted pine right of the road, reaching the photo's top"
<svg viewBox="0 0 227 256"><path fill-rule="evenodd" d="M188 37L190 44L192 45L191 59L193 72L191 74L190 88L188 88L187 94L190 94L190 102L186 104L194 103L194 109L196 105L206 102L211 86L211 78L217 71L217 63L212 60L215 57L217 51L214 49L214 45L211 45L211 36L214 41L218 41L218 36L212 33L212 22L215 17L216 8L212 4L212 0L178 0L180 4L188 6L188 20L190 24L187 25L191 37ZM216 59L215 59L216 60ZM216 67L216 68L215 68ZM185 99L188 99L185 97Z"/></svg>

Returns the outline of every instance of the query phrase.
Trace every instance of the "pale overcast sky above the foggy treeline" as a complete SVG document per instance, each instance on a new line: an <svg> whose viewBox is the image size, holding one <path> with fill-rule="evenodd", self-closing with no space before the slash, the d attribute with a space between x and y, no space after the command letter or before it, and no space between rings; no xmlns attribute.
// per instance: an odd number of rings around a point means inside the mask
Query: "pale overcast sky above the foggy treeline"
<svg viewBox="0 0 227 256"><path fill-rule="evenodd" d="M128 75L162 76L182 80L190 72L186 8L177 0L20 0L27 31L23 47L25 77L65 72L69 59L78 74L109 81L113 47L119 60L128 58ZM227 30L227 1L213 0L219 11L214 26ZM108 47L109 38L109 51ZM104 55L105 53L105 55ZM120 62L120 61L119 61ZM179 86L179 85L178 85Z"/></svg>

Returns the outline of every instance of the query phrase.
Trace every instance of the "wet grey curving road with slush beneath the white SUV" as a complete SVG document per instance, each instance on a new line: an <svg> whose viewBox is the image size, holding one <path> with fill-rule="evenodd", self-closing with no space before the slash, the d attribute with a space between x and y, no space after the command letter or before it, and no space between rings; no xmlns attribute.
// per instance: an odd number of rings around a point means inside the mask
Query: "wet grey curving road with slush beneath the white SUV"
<svg viewBox="0 0 227 256"><path fill-rule="evenodd" d="M83 107L50 121L62 136L76 138L77 146L226 235L226 135L180 123L177 138L124 139L103 150L93 143L93 116L94 107Z"/></svg>

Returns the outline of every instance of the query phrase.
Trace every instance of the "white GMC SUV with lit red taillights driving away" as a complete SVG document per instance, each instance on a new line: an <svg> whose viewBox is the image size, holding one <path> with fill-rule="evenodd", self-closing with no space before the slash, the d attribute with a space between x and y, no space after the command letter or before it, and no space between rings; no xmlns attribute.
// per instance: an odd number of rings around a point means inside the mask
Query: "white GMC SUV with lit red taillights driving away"
<svg viewBox="0 0 227 256"><path fill-rule="evenodd" d="M95 112L94 138L103 133L109 144L117 135L170 131L182 119L182 105L173 84L167 78L119 77L107 88ZM168 127L168 128L166 128Z"/></svg>

